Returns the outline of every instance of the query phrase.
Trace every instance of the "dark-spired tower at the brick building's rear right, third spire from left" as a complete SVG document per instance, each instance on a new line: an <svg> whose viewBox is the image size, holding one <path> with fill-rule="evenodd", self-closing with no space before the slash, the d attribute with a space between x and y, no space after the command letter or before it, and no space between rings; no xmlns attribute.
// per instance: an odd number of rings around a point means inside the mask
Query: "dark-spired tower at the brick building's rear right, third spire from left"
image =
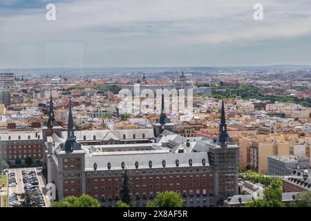
<svg viewBox="0 0 311 221"><path fill-rule="evenodd" d="M171 122L171 119L167 117L165 113L165 105L164 105L164 91L162 88L161 95L161 113L160 117L156 120L156 123L153 124L153 133L155 137L159 137L164 130L173 131L174 124Z"/></svg>

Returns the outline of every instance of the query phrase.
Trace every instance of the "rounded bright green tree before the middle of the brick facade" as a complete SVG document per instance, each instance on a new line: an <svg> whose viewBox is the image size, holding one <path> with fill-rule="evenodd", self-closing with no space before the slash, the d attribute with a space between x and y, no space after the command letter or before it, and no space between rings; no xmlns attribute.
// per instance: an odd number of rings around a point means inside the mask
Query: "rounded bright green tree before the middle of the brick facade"
<svg viewBox="0 0 311 221"><path fill-rule="evenodd" d="M154 203L147 203L147 207L182 207L182 205L180 194L173 191L159 193Z"/></svg>

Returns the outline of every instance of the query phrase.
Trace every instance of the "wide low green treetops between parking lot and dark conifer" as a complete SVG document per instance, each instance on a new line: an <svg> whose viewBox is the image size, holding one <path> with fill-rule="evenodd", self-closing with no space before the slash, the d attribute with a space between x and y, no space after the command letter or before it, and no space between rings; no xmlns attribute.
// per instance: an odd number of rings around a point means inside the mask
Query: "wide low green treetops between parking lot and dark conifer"
<svg viewBox="0 0 311 221"><path fill-rule="evenodd" d="M100 207L100 202L91 195L83 194L79 198L68 196L62 201L53 202L52 207Z"/></svg>

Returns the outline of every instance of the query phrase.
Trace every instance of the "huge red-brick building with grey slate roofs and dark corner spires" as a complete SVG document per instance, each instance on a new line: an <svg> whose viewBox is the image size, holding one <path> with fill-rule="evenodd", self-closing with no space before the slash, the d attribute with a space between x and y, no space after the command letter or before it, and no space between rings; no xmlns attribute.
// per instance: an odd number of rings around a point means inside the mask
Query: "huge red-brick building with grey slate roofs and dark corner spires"
<svg viewBox="0 0 311 221"><path fill-rule="evenodd" d="M133 206L163 191L180 193L185 206L220 206L238 194L238 145L227 134L224 106L218 139L209 140L172 133L163 102L153 129L75 132L70 101L68 131L43 135L44 166L57 200L86 193L114 206L125 170Z"/></svg>

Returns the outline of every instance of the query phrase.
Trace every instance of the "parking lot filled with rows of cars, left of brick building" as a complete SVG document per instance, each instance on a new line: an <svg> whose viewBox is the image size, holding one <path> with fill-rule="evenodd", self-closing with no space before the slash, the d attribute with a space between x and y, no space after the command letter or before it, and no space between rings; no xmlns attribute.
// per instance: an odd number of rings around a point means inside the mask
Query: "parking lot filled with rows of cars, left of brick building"
<svg viewBox="0 0 311 221"><path fill-rule="evenodd" d="M46 189L41 171L32 167L9 169L8 174L10 173L12 175L15 173L16 180L16 186L13 184L8 188L9 200L13 201L12 205L17 204L19 200L15 193L31 192L36 195L36 199L41 202L41 206L50 206L50 200L45 195Z"/></svg>

